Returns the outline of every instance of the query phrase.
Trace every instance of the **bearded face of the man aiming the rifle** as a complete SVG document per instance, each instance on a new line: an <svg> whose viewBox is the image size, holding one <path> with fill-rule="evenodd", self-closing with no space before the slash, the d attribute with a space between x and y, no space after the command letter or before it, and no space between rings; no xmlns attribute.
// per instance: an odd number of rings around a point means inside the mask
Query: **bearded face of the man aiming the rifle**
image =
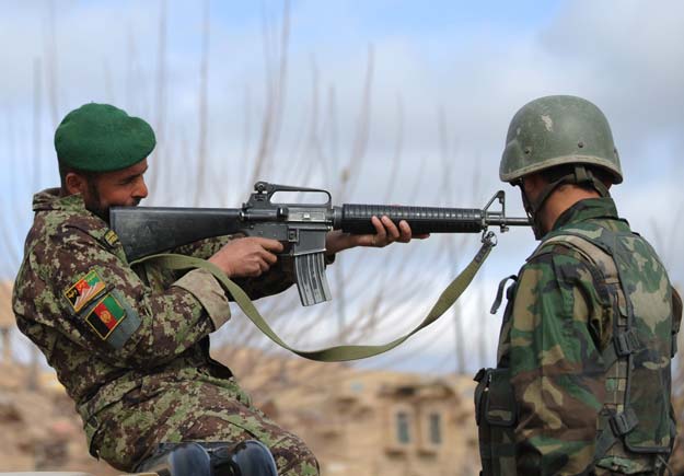
<svg viewBox="0 0 684 476"><path fill-rule="evenodd" d="M109 208L114 206L134 207L148 196L144 173L147 159L128 169L105 172L86 181L81 189L85 208L104 221L109 221Z"/></svg>

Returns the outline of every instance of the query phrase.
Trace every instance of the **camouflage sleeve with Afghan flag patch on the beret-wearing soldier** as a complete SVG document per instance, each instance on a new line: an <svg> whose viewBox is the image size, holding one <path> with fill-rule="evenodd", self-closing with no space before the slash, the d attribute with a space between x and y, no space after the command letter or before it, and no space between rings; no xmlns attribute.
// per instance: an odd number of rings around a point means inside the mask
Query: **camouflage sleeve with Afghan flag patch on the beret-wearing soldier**
<svg viewBox="0 0 684 476"><path fill-rule="evenodd" d="M34 300L28 318L113 365L159 365L213 330L201 298L181 286L151 289L84 229L65 225L40 240L22 274L37 281L24 279L18 292L23 302ZM229 313L224 305L213 312Z"/></svg>

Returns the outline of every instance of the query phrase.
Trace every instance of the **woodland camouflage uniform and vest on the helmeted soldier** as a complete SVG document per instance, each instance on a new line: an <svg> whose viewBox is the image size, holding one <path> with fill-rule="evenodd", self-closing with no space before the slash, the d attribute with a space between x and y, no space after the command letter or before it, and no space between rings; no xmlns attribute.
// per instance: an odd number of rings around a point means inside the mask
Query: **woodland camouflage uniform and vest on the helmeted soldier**
<svg viewBox="0 0 684 476"><path fill-rule="evenodd" d="M614 262L587 240L602 236L629 256ZM615 271L621 259L628 272ZM658 454L666 458L674 436L674 301L658 256L611 198L566 210L509 288L497 369L476 379L485 474L662 474ZM631 337L629 315L656 324L622 355L614 337ZM623 428L615 416L626 414L635 418ZM625 431L614 438L611 427Z"/></svg>

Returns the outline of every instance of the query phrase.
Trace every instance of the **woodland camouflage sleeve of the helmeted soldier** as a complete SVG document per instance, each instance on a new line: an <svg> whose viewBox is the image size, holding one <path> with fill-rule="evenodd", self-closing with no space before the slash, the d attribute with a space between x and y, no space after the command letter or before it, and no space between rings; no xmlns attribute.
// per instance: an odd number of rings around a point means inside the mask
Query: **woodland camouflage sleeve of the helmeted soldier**
<svg viewBox="0 0 684 476"><path fill-rule="evenodd" d="M592 464L605 388L589 265L554 246L521 270L510 330L518 474L576 475Z"/></svg>

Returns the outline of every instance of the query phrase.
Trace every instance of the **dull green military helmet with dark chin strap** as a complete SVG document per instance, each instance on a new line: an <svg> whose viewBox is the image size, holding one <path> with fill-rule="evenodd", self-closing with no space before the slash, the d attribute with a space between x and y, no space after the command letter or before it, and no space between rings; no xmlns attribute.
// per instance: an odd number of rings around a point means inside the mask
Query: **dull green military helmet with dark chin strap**
<svg viewBox="0 0 684 476"><path fill-rule="evenodd" d="M623 181L607 119L595 105L576 96L546 96L518 111L508 128L499 177L521 177L564 164L595 165L614 184Z"/></svg>

